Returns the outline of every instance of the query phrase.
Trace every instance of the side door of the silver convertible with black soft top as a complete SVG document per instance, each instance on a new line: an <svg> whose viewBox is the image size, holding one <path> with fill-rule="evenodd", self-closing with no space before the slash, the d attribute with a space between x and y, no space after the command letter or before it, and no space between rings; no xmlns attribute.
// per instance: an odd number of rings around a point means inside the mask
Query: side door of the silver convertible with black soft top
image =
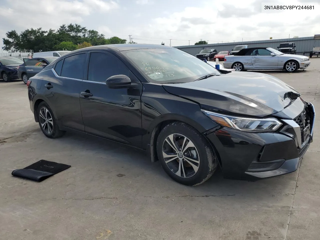
<svg viewBox="0 0 320 240"><path fill-rule="evenodd" d="M278 56L271 56L270 51L264 48L254 50L252 64L255 69L277 69Z"/></svg>

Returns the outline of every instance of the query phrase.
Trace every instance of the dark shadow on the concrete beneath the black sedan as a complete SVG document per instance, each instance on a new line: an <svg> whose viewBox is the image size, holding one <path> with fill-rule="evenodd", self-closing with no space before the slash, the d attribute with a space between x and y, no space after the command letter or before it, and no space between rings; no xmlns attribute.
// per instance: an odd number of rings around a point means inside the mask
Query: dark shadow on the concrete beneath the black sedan
<svg viewBox="0 0 320 240"><path fill-rule="evenodd" d="M295 173L257 181L230 180L223 178L222 170L218 166L212 177L203 184L194 187L184 186L172 180L164 172L159 161L151 163L149 157L146 156L146 152L140 149L76 133L67 133L59 141L62 141L64 145L70 145L68 148L73 148L74 145L75 148L97 150L99 155L106 157L91 156L90 168L97 169L100 172L104 171L104 164L114 169L121 169L125 166L123 168L124 172L119 173L127 175L131 180L133 178L134 181L137 181L136 185L130 187L131 189L136 187L136 191L143 191L139 189L142 184L144 189L152 189L154 194L163 193L164 196L161 197L166 197L167 195L170 197L241 196L243 198L241 201L244 199L248 199L248 201L255 199L258 203L260 200L265 202L268 199L272 199L273 202L282 199L284 195L291 195L295 185ZM76 160L74 166L77 164L81 165L82 163ZM81 166L76 167L81 168ZM140 183L138 184L138 182ZM123 187L126 188L126 186Z"/></svg>

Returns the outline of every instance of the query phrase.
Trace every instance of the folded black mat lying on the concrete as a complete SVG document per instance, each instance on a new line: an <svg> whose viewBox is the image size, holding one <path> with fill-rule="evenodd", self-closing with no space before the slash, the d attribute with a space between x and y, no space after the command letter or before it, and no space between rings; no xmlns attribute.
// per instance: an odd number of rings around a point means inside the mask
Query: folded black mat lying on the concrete
<svg viewBox="0 0 320 240"><path fill-rule="evenodd" d="M12 175L20 178L41 182L52 175L71 167L70 165L40 160L23 169L12 171Z"/></svg>

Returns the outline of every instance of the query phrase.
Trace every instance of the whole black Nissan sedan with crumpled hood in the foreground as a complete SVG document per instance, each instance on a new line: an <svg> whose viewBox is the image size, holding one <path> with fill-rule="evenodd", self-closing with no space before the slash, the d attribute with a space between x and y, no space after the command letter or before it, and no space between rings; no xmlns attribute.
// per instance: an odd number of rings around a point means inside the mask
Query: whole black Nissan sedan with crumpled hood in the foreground
<svg viewBox="0 0 320 240"><path fill-rule="evenodd" d="M185 185L293 172L315 111L262 73L216 70L176 48L114 44L72 51L28 81L44 135L77 130L146 150Z"/></svg>

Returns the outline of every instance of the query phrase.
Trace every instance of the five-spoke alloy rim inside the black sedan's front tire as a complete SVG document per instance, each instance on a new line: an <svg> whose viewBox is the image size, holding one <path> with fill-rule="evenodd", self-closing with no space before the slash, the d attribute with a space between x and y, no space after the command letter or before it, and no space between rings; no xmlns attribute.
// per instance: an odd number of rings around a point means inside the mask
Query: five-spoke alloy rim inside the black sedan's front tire
<svg viewBox="0 0 320 240"><path fill-rule="evenodd" d="M162 154L168 168L182 178L192 177L198 172L200 161L196 146L186 136L170 134L163 143Z"/></svg>

